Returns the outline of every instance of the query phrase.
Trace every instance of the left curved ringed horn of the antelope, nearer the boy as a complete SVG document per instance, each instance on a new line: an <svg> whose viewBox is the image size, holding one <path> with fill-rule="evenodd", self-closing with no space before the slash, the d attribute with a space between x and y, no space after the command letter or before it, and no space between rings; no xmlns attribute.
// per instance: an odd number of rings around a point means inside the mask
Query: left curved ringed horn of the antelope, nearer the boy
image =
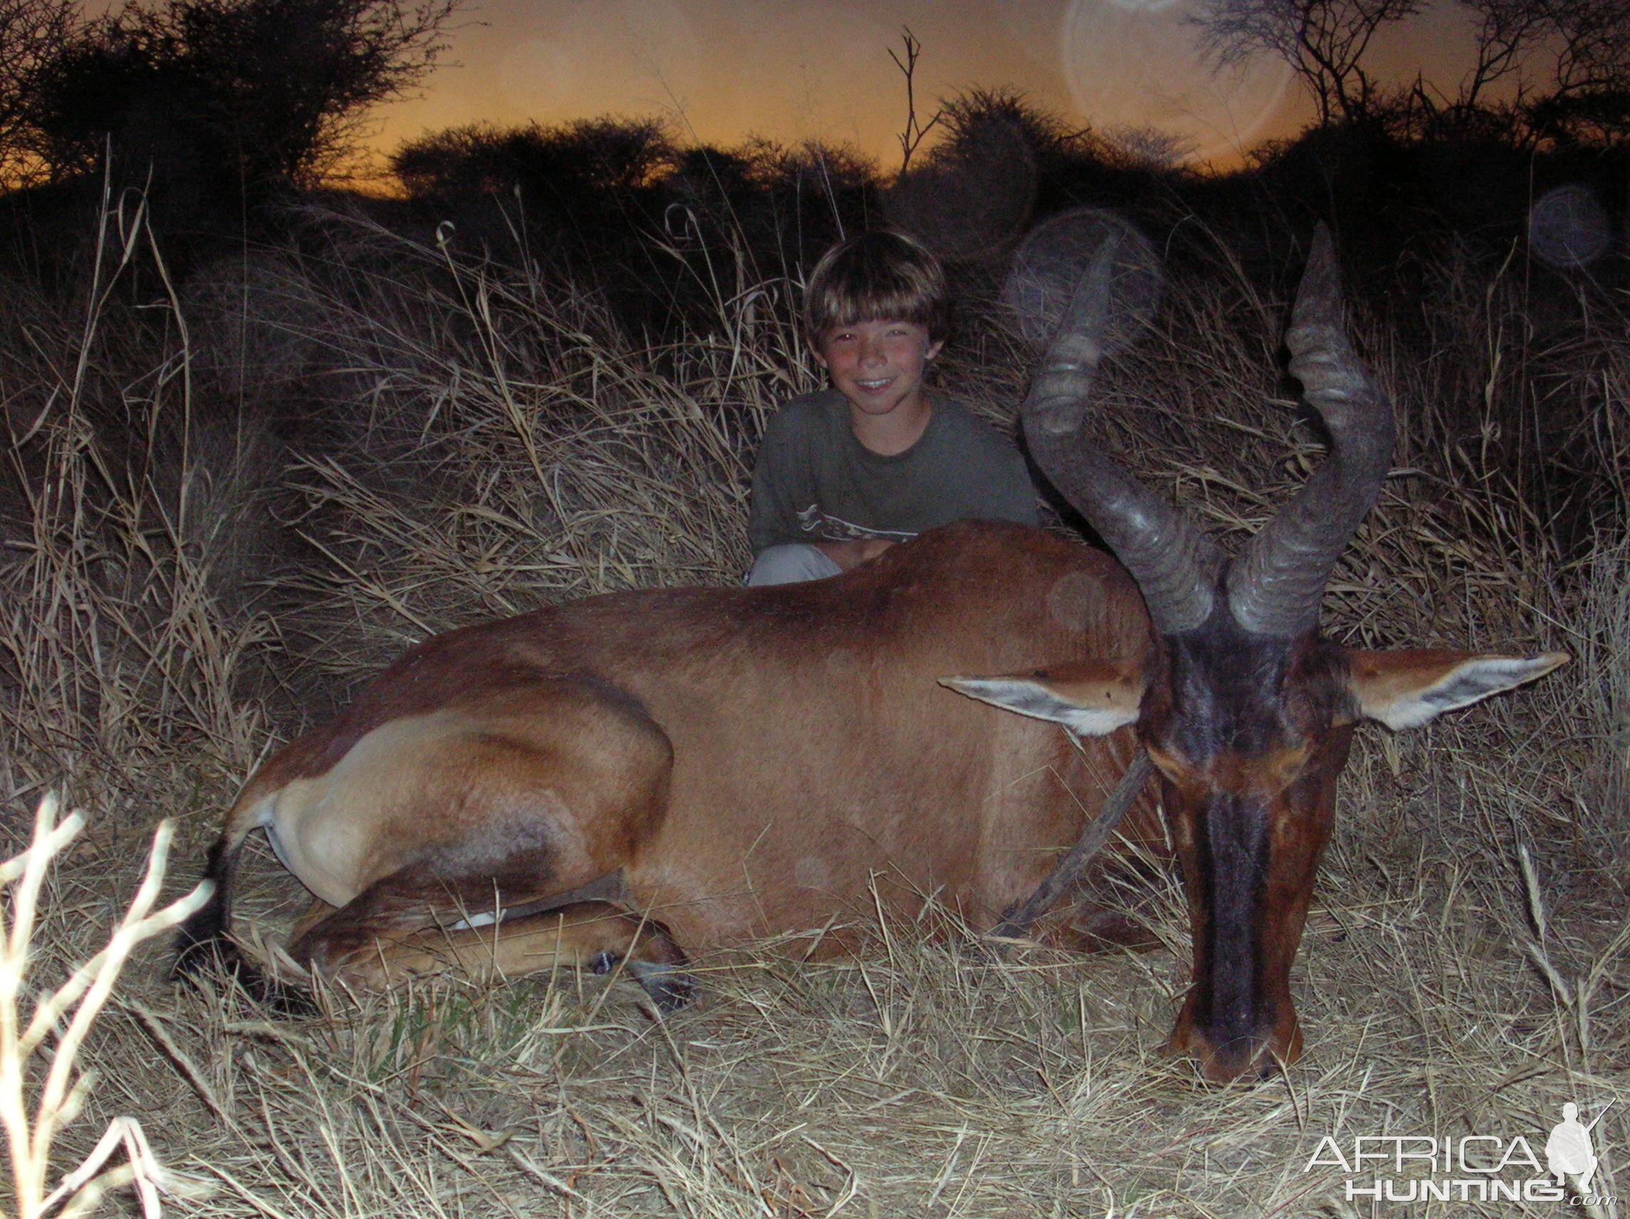
<svg viewBox="0 0 1630 1219"><path fill-rule="evenodd" d="M1131 572L1154 627L1180 634L1211 614L1221 551L1172 504L1081 438L1104 355L1117 244L1115 238L1104 243L1064 306L1024 403L1024 433L1042 471Z"/></svg>

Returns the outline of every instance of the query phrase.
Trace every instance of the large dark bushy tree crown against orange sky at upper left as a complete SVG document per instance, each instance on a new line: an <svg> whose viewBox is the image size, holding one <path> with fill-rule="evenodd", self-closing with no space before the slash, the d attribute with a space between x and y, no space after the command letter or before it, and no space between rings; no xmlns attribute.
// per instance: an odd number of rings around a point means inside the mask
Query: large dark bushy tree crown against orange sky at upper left
<svg viewBox="0 0 1630 1219"><path fill-rule="evenodd" d="M165 0L67 37L37 73L34 150L57 178L112 142L135 173L261 192L311 184L367 109L417 83L460 0Z"/></svg>

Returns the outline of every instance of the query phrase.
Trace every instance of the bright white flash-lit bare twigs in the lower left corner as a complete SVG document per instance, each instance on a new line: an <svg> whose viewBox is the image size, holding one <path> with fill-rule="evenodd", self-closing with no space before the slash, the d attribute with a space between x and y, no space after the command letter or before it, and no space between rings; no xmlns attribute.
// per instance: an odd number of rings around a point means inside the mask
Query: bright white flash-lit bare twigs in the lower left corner
<svg viewBox="0 0 1630 1219"><path fill-rule="evenodd" d="M187 896L153 909L174 833L170 821L161 821L140 888L108 945L55 989L36 989L29 984L31 966L41 939L49 934L42 921L52 913L49 874L83 828L85 815L78 812L59 821L57 797L46 795L34 815L28 851L0 864L0 885L7 890L0 926L0 1124L7 1136L15 1214L18 1219L47 1214L73 1219L91 1214L109 1190L130 1185L142 1212L156 1219L160 1191L176 1191L178 1183L153 1157L137 1118L109 1121L90 1154L73 1170L60 1173L55 1186L51 1185L51 1149L62 1128L80 1116L95 1087L95 1071L80 1071L82 1050L132 950L199 909L210 887L199 885ZM36 1079L36 1059L44 1063L42 1079ZM126 1162L109 1167L119 1151Z"/></svg>

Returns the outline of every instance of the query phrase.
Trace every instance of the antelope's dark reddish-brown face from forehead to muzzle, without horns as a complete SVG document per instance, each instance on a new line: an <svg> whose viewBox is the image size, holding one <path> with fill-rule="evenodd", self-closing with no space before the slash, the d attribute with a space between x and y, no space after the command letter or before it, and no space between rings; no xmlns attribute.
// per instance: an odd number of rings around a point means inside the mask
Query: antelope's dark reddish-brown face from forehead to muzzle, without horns
<svg viewBox="0 0 1630 1219"><path fill-rule="evenodd" d="M1301 1053L1289 971L1353 733L1345 654L1226 606L1165 636L1138 732L1183 867L1193 986L1170 1048L1218 1082Z"/></svg>

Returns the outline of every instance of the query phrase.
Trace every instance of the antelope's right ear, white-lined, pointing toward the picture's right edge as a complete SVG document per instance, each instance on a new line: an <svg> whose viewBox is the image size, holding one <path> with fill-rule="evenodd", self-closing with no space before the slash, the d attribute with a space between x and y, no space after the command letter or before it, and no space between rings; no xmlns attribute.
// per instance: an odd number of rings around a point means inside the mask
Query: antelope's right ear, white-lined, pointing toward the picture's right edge
<svg viewBox="0 0 1630 1219"><path fill-rule="evenodd" d="M1363 719L1394 732L1418 728L1446 711L1469 707L1566 665L1566 652L1496 657L1478 652L1348 652L1348 689Z"/></svg>

